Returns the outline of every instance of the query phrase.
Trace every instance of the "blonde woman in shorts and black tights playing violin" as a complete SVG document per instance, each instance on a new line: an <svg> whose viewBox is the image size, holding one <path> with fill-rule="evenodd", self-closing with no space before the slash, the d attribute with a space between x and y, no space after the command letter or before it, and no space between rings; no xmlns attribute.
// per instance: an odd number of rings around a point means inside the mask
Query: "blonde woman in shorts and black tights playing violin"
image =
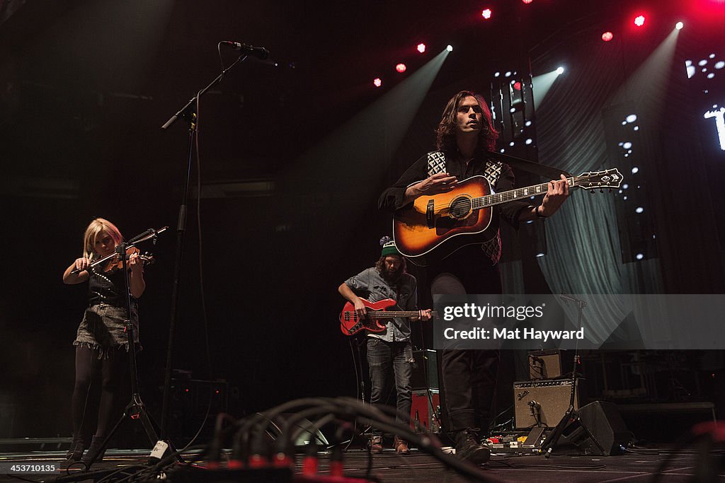
<svg viewBox="0 0 725 483"><path fill-rule="evenodd" d="M79 461L85 448L89 414L96 408L87 407L94 398L88 398L91 382L98 379L101 387L98 426L91 446L83 461L99 453L101 443L110 429L121 381L128 371L128 340L125 321L128 319L125 274L118 269L119 261L94 264L115 253L123 237L114 224L103 218L94 219L83 235L83 256L75 259L63 274L63 282L77 284L88 281L88 306L78 327L75 345L75 387L71 400L73 442L67 462ZM138 312L136 304L146 289L144 260L138 253L130 253L126 261L129 289L132 295L130 320L133 324L134 343L138 344ZM74 273L75 272L75 273ZM103 455L100 454L99 458ZM96 460L98 461L98 460Z"/></svg>

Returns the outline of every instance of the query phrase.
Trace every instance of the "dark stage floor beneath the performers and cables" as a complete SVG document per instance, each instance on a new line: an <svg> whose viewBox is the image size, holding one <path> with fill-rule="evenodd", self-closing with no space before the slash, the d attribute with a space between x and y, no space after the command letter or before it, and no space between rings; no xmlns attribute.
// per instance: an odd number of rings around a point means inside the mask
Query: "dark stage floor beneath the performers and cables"
<svg viewBox="0 0 725 483"><path fill-rule="evenodd" d="M546 459L543 455L515 455L495 454L491 461L482 466L486 479L491 482L652 482L663 461L668 461L660 481L671 482L700 482L697 469L703 466L700 455L695 451L674 452L668 448L647 448L633 450L624 455L616 456L581 456L581 455L552 455ZM101 463L96 463L93 470L122 470L117 474L104 479L106 482L118 482L125 479L134 470L140 469L146 463L148 450L110 450ZM721 453L711 453L713 461L721 464L724 457ZM188 458L193 459L193 458ZM60 463L62 454L59 452L33 452L33 453L4 453L0 454L0 463L7 467L7 463ZM297 471L301 472L302 455L297 458ZM330 453L320 453L319 474L328 476L328 463ZM134 467L135 466L135 467ZM199 464L198 466L204 466ZM134 467L134 468L132 468ZM344 474L349 477L363 477L368 471L368 454L363 450L349 450L344 453ZM72 474L80 476L79 470L72 469ZM107 474L106 471L104 473ZM66 474L65 471L62 474ZM392 450L385 450L381 455L373 457L373 466L370 474L382 483L422 483L422 482L467 482L460 474L447 469L444 463L436 458L413 450L410 456L396 455ZM3 474L2 482L54 482L58 474L31 475L31 474ZM239 476L239 475L237 475ZM96 478L96 480L98 477ZM167 481L173 482L173 474ZM217 481L203 478L201 474L192 477L191 481ZM725 473L720 471L717 481L725 481ZM75 481L84 481L76 479ZM85 481L91 481L86 479ZM124 481L138 481L136 479ZM144 480L145 481L145 480ZM150 480L149 480L150 481ZM178 479L177 479L178 481ZM184 479L184 481L189 481ZM250 481L235 478L233 481ZM254 481L263 481L255 479ZM308 480L309 481L309 480ZM714 481L714 480L713 480Z"/></svg>

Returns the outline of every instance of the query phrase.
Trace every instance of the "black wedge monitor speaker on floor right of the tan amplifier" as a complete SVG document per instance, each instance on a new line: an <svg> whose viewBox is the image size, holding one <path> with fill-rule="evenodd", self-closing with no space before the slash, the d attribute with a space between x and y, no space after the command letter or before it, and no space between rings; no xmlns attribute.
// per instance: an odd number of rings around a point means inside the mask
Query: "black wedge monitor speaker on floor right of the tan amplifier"
<svg viewBox="0 0 725 483"><path fill-rule="evenodd" d="M562 432L560 444L571 443L584 455L616 455L631 441L631 432L612 403L595 401L581 406L579 418Z"/></svg>

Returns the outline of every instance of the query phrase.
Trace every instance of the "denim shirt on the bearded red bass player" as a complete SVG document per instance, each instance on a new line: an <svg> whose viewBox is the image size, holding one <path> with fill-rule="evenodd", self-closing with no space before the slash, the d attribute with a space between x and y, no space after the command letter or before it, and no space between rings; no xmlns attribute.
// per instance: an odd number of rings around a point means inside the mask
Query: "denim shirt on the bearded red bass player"
<svg viewBox="0 0 725 483"><path fill-rule="evenodd" d="M402 274L397 284L390 285L373 266L345 280L345 285L350 287L355 295L366 298L370 302L392 298L397 302L400 310L418 310L418 281L411 274ZM410 320L407 318L391 319L386 324L384 332L368 332L368 337L376 337L386 342L410 341Z"/></svg>

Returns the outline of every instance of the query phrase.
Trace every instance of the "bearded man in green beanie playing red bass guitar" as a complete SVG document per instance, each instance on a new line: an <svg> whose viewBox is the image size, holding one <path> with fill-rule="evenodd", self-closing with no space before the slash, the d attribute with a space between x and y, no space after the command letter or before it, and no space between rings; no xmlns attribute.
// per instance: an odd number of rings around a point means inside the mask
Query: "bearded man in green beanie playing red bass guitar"
<svg viewBox="0 0 725 483"><path fill-rule="evenodd" d="M355 306L357 316L368 316L364 297L369 302L386 298L397 301L398 308L404 311L418 311L418 281L405 272L405 259L402 258L395 243L384 238L383 250L375 266L363 270L354 277L341 283L338 292ZM359 295L359 296L358 296ZM431 319L431 311L418 311L423 321ZM370 314L372 315L372 314ZM395 390L397 392L397 415L399 424L408 424L413 390L410 387L413 348L410 345L410 321L407 318L386 319L386 329L382 332L368 332L368 365L370 366L370 402L385 402L391 387L392 369ZM395 437L394 448L399 455L410 454L407 442ZM381 453L383 435L373 428L370 451Z"/></svg>

